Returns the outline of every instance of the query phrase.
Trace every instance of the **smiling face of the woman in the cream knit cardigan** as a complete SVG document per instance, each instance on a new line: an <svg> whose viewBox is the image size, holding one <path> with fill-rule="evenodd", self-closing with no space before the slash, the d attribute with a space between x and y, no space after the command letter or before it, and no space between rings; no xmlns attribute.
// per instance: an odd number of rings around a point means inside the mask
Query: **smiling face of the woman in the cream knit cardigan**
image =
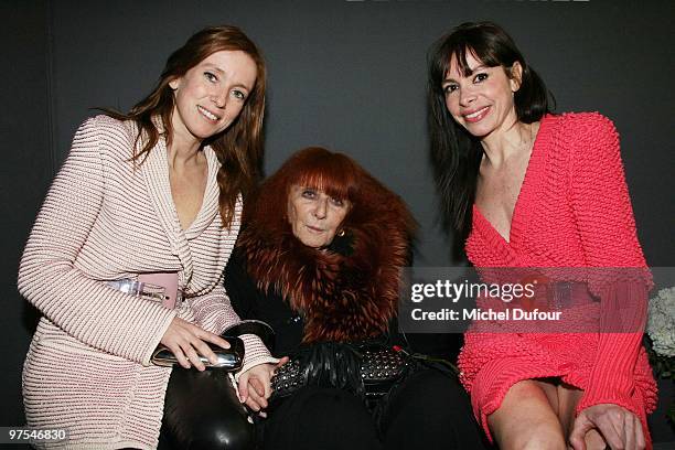
<svg viewBox="0 0 675 450"><path fill-rule="evenodd" d="M256 63L247 53L223 50L171 81L174 141L201 142L229 127L242 113L256 77Z"/></svg>

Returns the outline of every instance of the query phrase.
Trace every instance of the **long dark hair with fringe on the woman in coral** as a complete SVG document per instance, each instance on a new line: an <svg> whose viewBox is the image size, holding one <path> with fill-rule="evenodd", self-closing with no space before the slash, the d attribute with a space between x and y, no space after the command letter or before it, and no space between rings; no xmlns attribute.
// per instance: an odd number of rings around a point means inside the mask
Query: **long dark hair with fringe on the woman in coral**
<svg viewBox="0 0 675 450"><path fill-rule="evenodd" d="M549 113L549 92L537 73L527 64L511 36L493 22L467 22L443 35L428 55L428 98L431 160L437 189L441 196L443 224L460 233L471 231L471 208L483 148L478 138L457 124L446 106L442 83L456 57L459 68L468 76L467 53L489 67L502 66L511 77L511 67L518 62L523 68L521 86L514 103L517 119L532 124ZM551 104L553 104L553 96Z"/></svg>

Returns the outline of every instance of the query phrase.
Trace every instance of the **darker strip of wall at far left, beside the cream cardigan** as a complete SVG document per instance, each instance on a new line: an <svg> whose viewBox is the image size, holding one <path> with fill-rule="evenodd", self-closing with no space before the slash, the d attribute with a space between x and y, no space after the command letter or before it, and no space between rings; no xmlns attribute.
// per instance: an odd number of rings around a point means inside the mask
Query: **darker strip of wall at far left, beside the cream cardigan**
<svg viewBox="0 0 675 450"><path fill-rule="evenodd" d="M0 426L23 424L21 366L36 314L17 291L23 244L54 175L50 144L47 7L0 3Z"/></svg>

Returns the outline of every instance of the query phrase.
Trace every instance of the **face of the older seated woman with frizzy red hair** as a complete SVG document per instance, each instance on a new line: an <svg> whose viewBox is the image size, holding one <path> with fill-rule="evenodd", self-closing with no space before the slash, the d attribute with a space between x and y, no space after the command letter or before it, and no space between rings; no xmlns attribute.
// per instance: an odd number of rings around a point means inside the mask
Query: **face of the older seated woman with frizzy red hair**
<svg viewBox="0 0 675 450"><path fill-rule="evenodd" d="M291 185L288 222L293 235L308 247L330 245L349 211L346 200L333 199L312 188Z"/></svg>

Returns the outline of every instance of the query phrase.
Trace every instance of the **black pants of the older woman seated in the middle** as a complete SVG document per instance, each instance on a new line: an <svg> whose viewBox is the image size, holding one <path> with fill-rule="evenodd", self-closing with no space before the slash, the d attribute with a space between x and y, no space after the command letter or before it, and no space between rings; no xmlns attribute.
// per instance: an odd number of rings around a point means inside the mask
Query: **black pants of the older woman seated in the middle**
<svg viewBox="0 0 675 450"><path fill-rule="evenodd" d="M387 398L376 424L363 401L304 387L265 422L265 450L486 449L468 395L454 378L420 369Z"/></svg>

